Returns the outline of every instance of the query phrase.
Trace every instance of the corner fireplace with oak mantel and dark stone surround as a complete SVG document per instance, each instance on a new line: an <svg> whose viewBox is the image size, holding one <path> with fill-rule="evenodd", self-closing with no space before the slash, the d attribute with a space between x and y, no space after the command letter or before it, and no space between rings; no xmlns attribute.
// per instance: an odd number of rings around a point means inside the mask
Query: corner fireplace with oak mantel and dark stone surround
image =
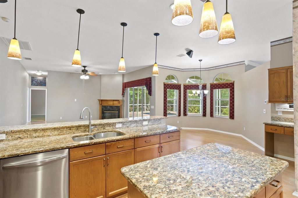
<svg viewBox="0 0 298 198"><path fill-rule="evenodd" d="M98 100L99 119L122 118L122 100Z"/></svg>

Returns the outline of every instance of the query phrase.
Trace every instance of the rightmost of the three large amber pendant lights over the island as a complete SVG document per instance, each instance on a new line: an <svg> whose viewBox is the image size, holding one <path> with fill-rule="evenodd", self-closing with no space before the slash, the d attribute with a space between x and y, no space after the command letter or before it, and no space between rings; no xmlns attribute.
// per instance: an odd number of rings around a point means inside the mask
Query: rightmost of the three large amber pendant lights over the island
<svg viewBox="0 0 298 198"><path fill-rule="evenodd" d="M221 19L221 28L219 30L218 43L219 44L230 44L236 41L235 31L232 21L232 16L228 12L228 0L226 0L226 13L224 13Z"/></svg>

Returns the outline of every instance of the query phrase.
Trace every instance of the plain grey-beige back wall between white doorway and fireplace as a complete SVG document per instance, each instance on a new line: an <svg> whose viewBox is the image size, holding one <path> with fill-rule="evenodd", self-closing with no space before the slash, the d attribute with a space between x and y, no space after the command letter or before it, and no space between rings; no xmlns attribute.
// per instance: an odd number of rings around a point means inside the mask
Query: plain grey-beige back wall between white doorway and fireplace
<svg viewBox="0 0 298 198"><path fill-rule="evenodd" d="M80 74L48 71L47 122L79 121L84 107L91 109L92 120L98 120L100 84L101 76L90 76L83 92ZM84 115L84 120L88 120L88 111Z"/></svg>

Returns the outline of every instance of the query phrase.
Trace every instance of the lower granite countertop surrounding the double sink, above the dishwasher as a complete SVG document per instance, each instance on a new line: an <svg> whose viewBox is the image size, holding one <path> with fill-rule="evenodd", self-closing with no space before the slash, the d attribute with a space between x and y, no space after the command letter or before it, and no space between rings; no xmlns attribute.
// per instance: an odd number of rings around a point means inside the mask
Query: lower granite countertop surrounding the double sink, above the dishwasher
<svg viewBox="0 0 298 198"><path fill-rule="evenodd" d="M174 132L179 130L180 128L177 128L174 126L159 124L159 125L149 125L145 127L116 128L114 130L109 130L109 131L119 131L124 135L111 137L111 138L95 139L95 140L90 140L85 142L75 142L72 140L72 137L93 135L96 133L103 132L105 130L97 131L93 133L71 133L71 134L59 135L59 136L12 140L12 141L0 143L0 159L15 157L19 155L27 155L32 153L41 153L41 152L46 152L51 150L59 150L59 149L86 146L86 145L99 144L99 143L105 143L105 142L113 142L113 141L123 140L123 139L132 139L132 138L142 137L142 136L157 135L157 134L169 133L169 132Z"/></svg>

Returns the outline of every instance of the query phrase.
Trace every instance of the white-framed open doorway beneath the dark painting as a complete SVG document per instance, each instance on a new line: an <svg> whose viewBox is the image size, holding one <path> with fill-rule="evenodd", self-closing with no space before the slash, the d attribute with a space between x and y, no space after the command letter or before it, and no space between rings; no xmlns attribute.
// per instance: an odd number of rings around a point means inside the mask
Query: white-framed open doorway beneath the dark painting
<svg viewBox="0 0 298 198"><path fill-rule="evenodd" d="M28 124L46 123L47 89L30 88Z"/></svg>

